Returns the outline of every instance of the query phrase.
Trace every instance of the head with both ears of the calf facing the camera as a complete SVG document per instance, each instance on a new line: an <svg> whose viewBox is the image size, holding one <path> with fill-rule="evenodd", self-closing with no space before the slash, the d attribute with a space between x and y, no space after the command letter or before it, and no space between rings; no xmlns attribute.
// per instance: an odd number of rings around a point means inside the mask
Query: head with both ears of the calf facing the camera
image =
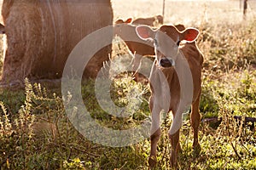
<svg viewBox="0 0 256 170"><path fill-rule="evenodd" d="M161 67L174 66L182 44L194 42L199 35L195 28L177 31L175 26L161 26L157 30L152 30L149 26L137 26L136 31L141 39L154 42L156 59Z"/></svg>

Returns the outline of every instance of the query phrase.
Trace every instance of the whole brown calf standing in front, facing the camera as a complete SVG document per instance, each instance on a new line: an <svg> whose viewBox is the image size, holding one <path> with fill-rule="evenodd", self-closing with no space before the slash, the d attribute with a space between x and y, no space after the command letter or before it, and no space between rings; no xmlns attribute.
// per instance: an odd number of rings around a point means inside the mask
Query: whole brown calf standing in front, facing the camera
<svg viewBox="0 0 256 170"><path fill-rule="evenodd" d="M150 129L151 149L148 163L156 163L156 147L160 138L160 111L172 111L173 122L168 133L172 144L170 157L176 166L180 150L179 129L183 111L192 104L191 125L194 129L193 147L200 148L198 127L200 124L199 103L201 96L201 67L203 55L195 44L199 31L187 28L177 31L174 26L161 26L154 31L148 26L137 26L137 35L146 41L154 41L156 57L149 77L152 95L149 100L152 114Z"/></svg>

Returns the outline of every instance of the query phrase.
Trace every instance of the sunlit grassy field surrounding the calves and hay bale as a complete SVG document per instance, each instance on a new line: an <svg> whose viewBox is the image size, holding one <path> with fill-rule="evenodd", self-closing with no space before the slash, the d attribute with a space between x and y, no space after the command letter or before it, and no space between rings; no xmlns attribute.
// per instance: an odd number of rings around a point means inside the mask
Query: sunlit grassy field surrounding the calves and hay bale
<svg viewBox="0 0 256 170"><path fill-rule="evenodd" d="M114 20L162 13L158 0L112 2ZM189 115L184 114L178 169L256 169L256 129L233 118L256 117L256 3L248 2L247 20L243 20L239 1L166 0L166 24L181 23L201 31L197 42L205 58L202 119L222 117L222 122L201 122L199 153L192 149L192 127ZM118 65L130 61L122 45L114 44L113 51L113 61ZM94 94L94 81L88 80L81 91L84 105L96 122L103 127L127 129L148 118L148 84L134 82L131 74L124 73L111 85L111 99L116 105L129 106L130 116L117 118L102 111ZM137 99L140 107L134 109L132 104ZM26 80L25 89L0 88L0 100L1 169L148 169L149 139L116 148L91 142L65 115L63 102L68 99L63 101L59 88ZM172 118L167 116L161 125L155 169L170 169L167 132L171 124Z"/></svg>

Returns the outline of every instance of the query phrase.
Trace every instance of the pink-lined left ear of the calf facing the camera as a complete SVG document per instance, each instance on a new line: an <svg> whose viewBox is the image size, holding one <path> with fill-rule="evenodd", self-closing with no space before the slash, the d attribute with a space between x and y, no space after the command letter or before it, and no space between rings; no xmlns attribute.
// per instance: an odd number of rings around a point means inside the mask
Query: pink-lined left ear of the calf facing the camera
<svg viewBox="0 0 256 170"><path fill-rule="evenodd" d="M137 36L143 40L154 39L154 31L149 26L137 26L136 32Z"/></svg>

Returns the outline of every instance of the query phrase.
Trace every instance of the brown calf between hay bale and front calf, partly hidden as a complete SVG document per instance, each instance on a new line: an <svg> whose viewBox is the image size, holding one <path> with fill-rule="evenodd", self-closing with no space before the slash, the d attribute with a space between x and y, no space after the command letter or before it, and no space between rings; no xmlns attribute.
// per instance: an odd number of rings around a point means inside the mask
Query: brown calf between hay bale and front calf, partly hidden
<svg viewBox="0 0 256 170"><path fill-rule="evenodd" d="M129 18L127 20L116 20L113 28L113 35L117 35L123 40L125 40L125 44L127 48L129 48L129 53L133 56L132 61L132 70L136 71L139 69L141 65L141 60L143 56L154 55L154 47L152 42L148 42L148 45L145 44L139 37L137 37L136 26L132 25L132 19ZM175 26L178 31L185 30L183 25ZM133 41L127 41L127 39L131 38ZM135 81L138 81L138 74L135 74Z"/></svg>

